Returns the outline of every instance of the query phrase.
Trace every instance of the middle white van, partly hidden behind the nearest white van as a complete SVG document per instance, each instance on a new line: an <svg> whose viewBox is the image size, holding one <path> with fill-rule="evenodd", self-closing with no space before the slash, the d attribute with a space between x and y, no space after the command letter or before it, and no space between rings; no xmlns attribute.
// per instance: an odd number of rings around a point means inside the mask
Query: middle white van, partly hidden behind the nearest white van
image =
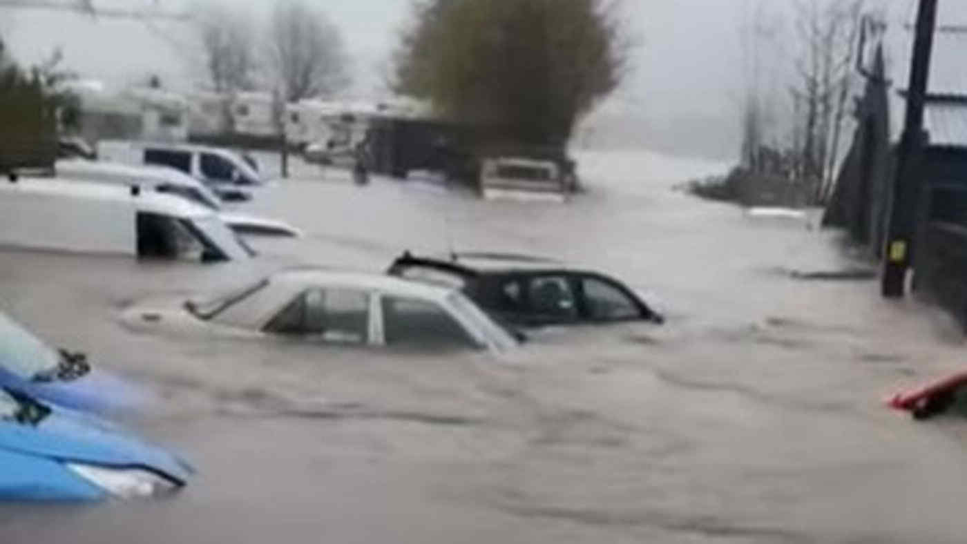
<svg viewBox="0 0 967 544"><path fill-rule="evenodd" d="M221 220L239 234L299 237L302 233L284 222L226 211L221 200L207 186L167 166L129 166L118 162L82 159L58 160L58 178L95 184L140 186L172 194L217 212Z"/></svg>

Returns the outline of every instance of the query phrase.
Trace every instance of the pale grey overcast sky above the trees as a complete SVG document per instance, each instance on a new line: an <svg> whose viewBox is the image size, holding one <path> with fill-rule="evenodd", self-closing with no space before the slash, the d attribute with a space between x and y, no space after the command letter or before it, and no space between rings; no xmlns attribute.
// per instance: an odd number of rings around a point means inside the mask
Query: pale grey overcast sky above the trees
<svg viewBox="0 0 967 544"><path fill-rule="evenodd" d="M70 2L73 0L62 0ZM103 7L139 8L154 0L94 0ZM192 0L157 0L184 11ZM196 0L204 2L205 0ZM562 0L566 1L566 0ZM875 3L881 0L869 0ZM257 22L273 0L224 0ZM907 4L911 0L895 0ZM957 0L962 2L962 0ZM756 4L781 11L791 0L625 0L624 14L635 43L632 70L605 109L647 119L653 130L678 129L681 138L711 138L713 155L736 148L736 120L743 87L740 21ZM949 3L949 2L948 2ZM371 96L389 66L412 0L316 0L341 29L353 62L354 93ZM790 32L785 30L784 32ZM58 45L68 68L110 83L144 81L161 74L172 87L203 79L190 26L183 23L97 19L77 14L0 8L0 36L15 58L36 63ZM257 40L257 36L253 36Z"/></svg>

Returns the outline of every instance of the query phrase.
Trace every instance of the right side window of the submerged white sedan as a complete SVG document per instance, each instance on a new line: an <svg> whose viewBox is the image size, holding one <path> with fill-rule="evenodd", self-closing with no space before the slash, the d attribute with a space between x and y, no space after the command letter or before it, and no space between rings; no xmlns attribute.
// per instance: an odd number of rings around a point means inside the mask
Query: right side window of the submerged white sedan
<svg viewBox="0 0 967 544"><path fill-rule="evenodd" d="M433 302L384 297L382 306L387 345L479 347L453 316Z"/></svg>

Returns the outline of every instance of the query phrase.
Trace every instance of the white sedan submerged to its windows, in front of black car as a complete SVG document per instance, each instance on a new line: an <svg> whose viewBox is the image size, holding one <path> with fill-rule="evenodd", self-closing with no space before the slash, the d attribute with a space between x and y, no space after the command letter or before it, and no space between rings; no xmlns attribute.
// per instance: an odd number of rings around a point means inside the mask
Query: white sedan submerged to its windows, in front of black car
<svg viewBox="0 0 967 544"><path fill-rule="evenodd" d="M323 344L503 351L517 344L459 291L395 277L277 272L233 293L156 299L124 312L138 331L297 337Z"/></svg>

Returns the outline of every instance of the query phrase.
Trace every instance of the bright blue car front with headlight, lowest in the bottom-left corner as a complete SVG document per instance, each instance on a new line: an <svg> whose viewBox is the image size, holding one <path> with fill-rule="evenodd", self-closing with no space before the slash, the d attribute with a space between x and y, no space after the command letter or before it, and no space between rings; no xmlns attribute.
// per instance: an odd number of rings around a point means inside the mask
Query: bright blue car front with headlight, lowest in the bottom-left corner
<svg viewBox="0 0 967 544"><path fill-rule="evenodd" d="M0 387L0 501L156 498L192 472L118 426Z"/></svg>

